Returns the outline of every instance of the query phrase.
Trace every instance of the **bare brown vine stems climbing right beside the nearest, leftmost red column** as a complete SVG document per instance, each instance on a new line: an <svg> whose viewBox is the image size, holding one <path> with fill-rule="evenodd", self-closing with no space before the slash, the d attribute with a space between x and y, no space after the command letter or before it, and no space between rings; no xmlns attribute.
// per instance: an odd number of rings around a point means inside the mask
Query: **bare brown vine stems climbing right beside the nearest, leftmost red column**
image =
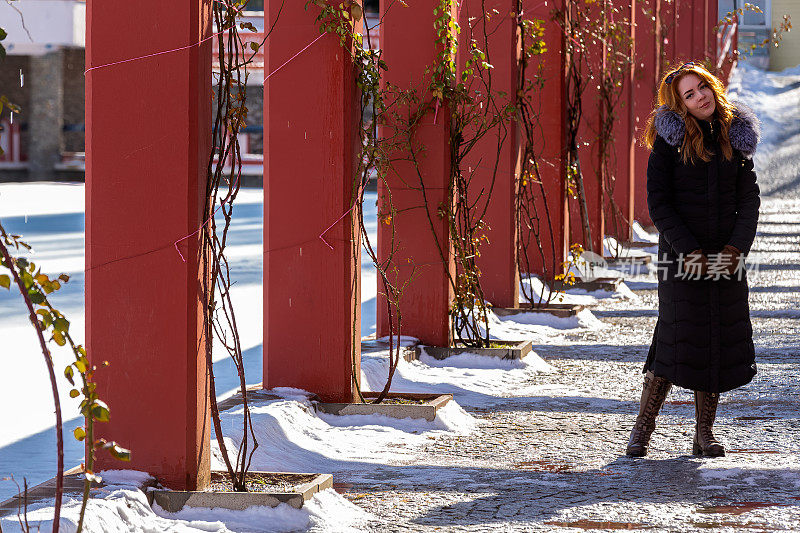
<svg viewBox="0 0 800 533"><path fill-rule="evenodd" d="M241 22L248 0L230 3L213 2L214 27L219 38L215 40L219 56L219 71L215 72L214 123L212 150L208 160L205 206L201 228L201 281L203 327L206 350L206 370L209 377L209 400L214 434L234 491L246 492L245 477L250 468L258 440L253 431L248 399L247 380L239 329L231 300L231 265L225 255L233 219L236 197L241 187L242 154L238 133L247 120L248 66L261 49L280 19L284 3L272 26L260 43L247 41L240 32L255 32L249 22ZM214 340L230 357L239 376L239 394L242 398L242 441L232 459L225 443L217 404L214 380Z"/></svg>

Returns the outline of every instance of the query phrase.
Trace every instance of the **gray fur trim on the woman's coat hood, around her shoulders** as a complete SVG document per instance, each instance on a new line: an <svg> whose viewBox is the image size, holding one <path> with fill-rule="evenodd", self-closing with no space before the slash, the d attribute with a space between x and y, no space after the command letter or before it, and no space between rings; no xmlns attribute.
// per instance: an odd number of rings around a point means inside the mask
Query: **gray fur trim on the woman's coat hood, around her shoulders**
<svg viewBox="0 0 800 533"><path fill-rule="evenodd" d="M728 137L731 146L739 150L747 157L753 157L756 152L756 145L761 139L761 122L753 113L753 110L741 102L734 102L734 117L731 127L728 130ZM686 124L683 118L662 105L656 111L655 117L656 132L672 146L683 144L683 136L686 134Z"/></svg>

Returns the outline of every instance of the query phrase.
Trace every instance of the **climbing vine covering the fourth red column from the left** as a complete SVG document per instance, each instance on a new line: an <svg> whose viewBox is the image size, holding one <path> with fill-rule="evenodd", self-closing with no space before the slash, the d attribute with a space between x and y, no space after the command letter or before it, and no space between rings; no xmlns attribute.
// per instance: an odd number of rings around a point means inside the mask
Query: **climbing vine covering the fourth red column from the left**
<svg viewBox="0 0 800 533"><path fill-rule="evenodd" d="M455 261L455 271L448 266L448 250L436 239L448 281L453 290L450 306L451 338L453 342L469 347L489 345L489 318L478 265L481 245L488 242L489 229L485 220L492 200L494 185L500 172L501 152L510 140L510 128L516 127L517 109L515 95L498 91L493 86L493 69L490 35L496 31L494 18L508 16L486 8L481 2L479 12L469 17L462 28L454 16L453 0L441 0L434 10L434 29L439 55L429 68L432 81L425 106L438 110L447 106L450 111L450 176L445 200L437 213L448 223L449 243ZM459 33L465 34L459 38ZM459 43L465 57L464 65L456 64ZM435 114L435 111L434 111ZM464 168L473 149L489 135L496 136L495 149L482 154L479 165L488 169L488 184L473 184L473 169ZM490 137L494 138L494 137ZM409 138L409 141L411 139ZM411 144L411 143L409 143ZM428 204L424 180L419 175L417 155L411 146L420 187ZM475 169L477 170L477 169ZM425 210L434 237L435 223L430 210Z"/></svg>

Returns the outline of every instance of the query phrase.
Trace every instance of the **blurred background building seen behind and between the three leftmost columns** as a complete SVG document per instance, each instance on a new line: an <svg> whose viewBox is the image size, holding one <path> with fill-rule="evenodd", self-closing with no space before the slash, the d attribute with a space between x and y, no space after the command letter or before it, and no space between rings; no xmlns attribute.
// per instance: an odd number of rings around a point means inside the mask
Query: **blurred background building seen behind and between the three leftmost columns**
<svg viewBox="0 0 800 533"><path fill-rule="evenodd" d="M365 0L377 24L378 0ZM250 0L244 20L263 40L264 0ZM22 109L0 114L0 181L82 180L84 174L85 0L0 2L8 56L0 62L0 93ZM373 35L374 37L374 35ZM247 127L239 136L243 183L263 172L263 53L249 70Z"/></svg>

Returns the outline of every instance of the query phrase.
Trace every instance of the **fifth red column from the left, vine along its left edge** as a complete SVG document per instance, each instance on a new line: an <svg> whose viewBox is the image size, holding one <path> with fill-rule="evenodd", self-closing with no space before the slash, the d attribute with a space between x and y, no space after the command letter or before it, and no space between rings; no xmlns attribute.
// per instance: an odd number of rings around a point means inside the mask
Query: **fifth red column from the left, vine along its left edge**
<svg viewBox="0 0 800 533"><path fill-rule="evenodd" d="M548 3L549 4L549 3ZM564 0L556 0L556 8L561 8ZM531 273L552 279L561 273L561 263L566 261L569 249L569 206L566 187L566 85L564 54L564 33L558 22L552 19L552 6L538 0L525 0L524 16L528 19L541 19L545 22L544 39L547 51L538 61L534 60L526 69L526 77L533 80L540 64L543 66L544 85L538 96L534 96L534 106L541 110L541 136L538 139L539 171L541 189L538 184L528 186L536 189L536 213L540 223L537 228L542 249L536 245L532 231L522 228L520 239L527 242L527 263ZM520 126L522 127L522 126ZM543 191L543 192L542 192ZM520 259L522 260L522 259ZM524 263L523 263L524 264Z"/></svg>

